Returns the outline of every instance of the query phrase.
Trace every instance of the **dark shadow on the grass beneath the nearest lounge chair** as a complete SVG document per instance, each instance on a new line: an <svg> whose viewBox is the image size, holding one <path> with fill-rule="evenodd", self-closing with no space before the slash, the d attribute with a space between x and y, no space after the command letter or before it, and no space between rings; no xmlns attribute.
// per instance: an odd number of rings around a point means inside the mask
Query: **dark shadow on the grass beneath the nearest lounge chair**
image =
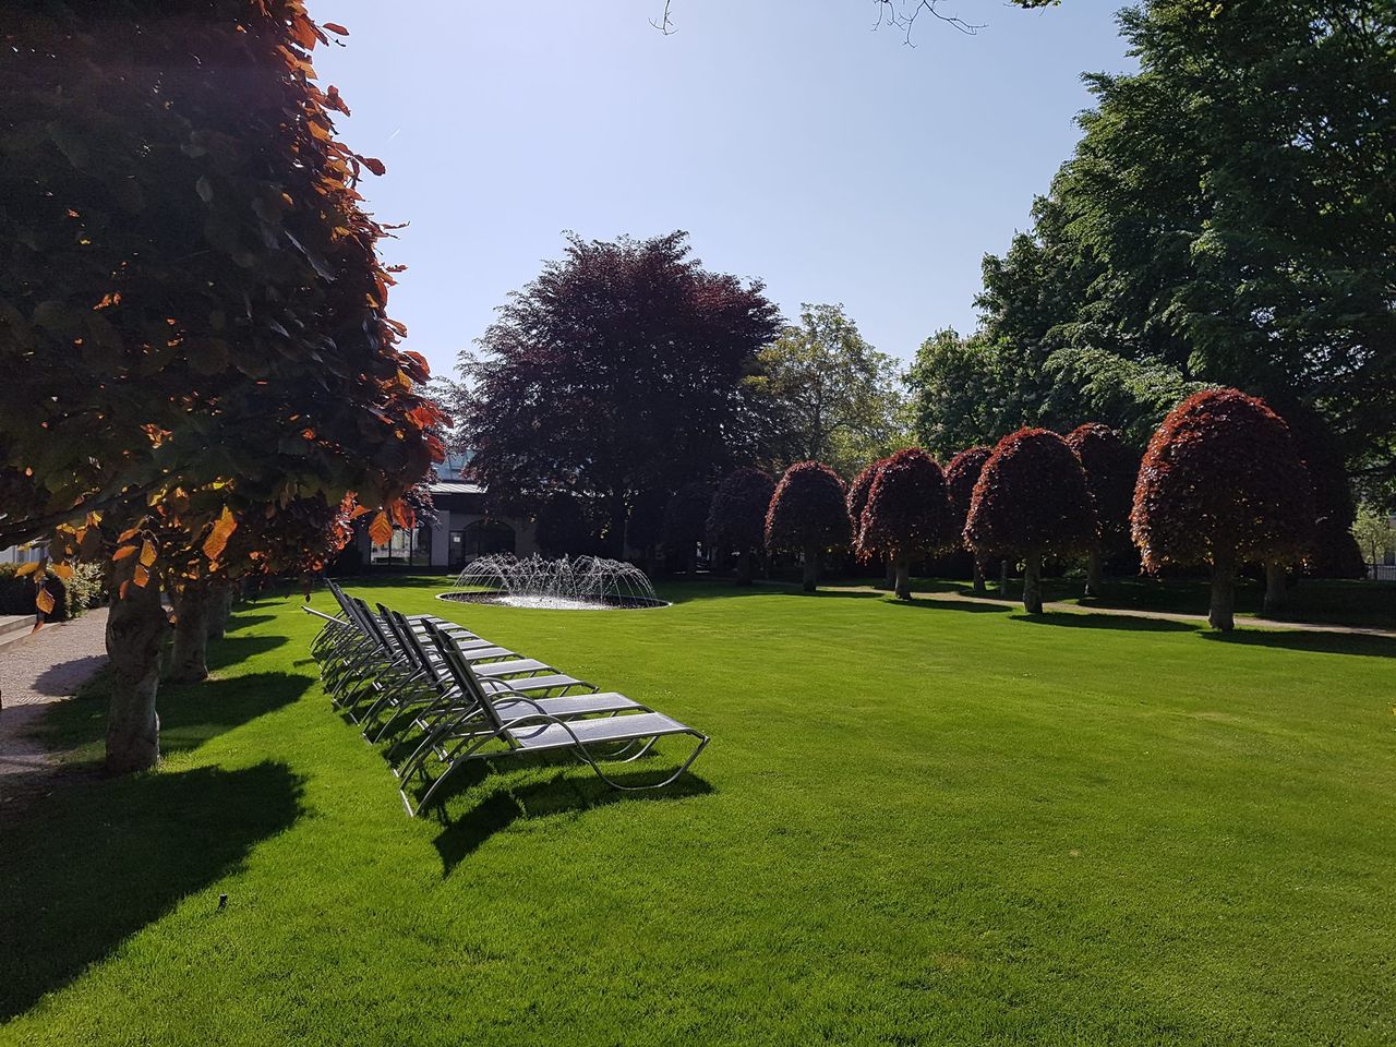
<svg viewBox="0 0 1396 1047"><path fill-rule="evenodd" d="M539 766L553 771L553 775L543 782L536 780ZM692 796L705 796L713 792L712 785L698 775L685 772L677 782L663 787L642 793L621 792L611 789L591 771L578 773L575 761L553 761L547 764L539 761L532 768L533 775L524 775L525 782L519 782L521 772L491 772L484 762L461 768L456 778L462 780L447 797L447 801L437 808L436 818L444 826L441 833L433 840L437 853L441 856L441 875L451 875L452 870L465 859L479 850L497 832L508 829L517 821L551 818L561 814L578 814L599 807L610 807L617 803L671 803L687 800ZM607 772L610 773L610 772ZM639 786L653 782L659 771L628 771L625 773L610 773L621 785ZM463 812L452 815L452 799L459 799L465 792L477 792L486 779L496 779L497 786L482 799L476 800Z"/></svg>

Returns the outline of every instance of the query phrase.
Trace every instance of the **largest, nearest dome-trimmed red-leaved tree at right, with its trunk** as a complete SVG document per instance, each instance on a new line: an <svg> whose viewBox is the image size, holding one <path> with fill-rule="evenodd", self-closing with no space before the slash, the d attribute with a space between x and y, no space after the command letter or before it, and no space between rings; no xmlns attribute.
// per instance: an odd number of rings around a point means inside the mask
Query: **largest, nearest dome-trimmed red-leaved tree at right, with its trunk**
<svg viewBox="0 0 1396 1047"><path fill-rule="evenodd" d="M1263 564L1268 589L1302 560L1314 491L1290 427L1240 389L1182 401L1149 441L1131 517L1143 565L1210 564L1212 628L1235 625L1235 572Z"/></svg>

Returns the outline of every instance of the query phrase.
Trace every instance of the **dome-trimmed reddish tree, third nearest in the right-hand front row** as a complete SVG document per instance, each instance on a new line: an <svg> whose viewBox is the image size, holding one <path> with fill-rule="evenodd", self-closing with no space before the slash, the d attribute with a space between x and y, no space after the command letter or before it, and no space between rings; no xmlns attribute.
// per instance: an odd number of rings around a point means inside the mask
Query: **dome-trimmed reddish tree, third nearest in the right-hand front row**
<svg viewBox="0 0 1396 1047"><path fill-rule="evenodd" d="M956 537L945 475L935 459L916 447L888 456L859 519L859 556L889 557L896 571L893 592L909 600L912 556L937 553Z"/></svg>

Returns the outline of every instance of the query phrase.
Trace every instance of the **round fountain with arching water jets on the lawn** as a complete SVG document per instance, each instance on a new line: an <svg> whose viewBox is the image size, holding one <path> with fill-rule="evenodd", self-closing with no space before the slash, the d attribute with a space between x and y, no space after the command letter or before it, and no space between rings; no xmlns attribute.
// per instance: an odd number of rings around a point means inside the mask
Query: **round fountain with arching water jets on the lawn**
<svg viewBox="0 0 1396 1047"><path fill-rule="evenodd" d="M519 560L496 553L475 560L461 571L447 600L503 603L508 607L544 610L617 610L667 607L655 586L634 564L596 556Z"/></svg>

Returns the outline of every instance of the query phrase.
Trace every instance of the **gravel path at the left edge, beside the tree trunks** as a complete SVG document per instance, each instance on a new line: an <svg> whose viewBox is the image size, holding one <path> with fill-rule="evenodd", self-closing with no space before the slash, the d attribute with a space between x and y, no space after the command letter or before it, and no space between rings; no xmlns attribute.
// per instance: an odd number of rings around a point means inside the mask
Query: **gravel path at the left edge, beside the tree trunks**
<svg viewBox="0 0 1396 1047"><path fill-rule="evenodd" d="M106 664L106 607L0 645L0 814L47 790L54 761L31 732Z"/></svg>

